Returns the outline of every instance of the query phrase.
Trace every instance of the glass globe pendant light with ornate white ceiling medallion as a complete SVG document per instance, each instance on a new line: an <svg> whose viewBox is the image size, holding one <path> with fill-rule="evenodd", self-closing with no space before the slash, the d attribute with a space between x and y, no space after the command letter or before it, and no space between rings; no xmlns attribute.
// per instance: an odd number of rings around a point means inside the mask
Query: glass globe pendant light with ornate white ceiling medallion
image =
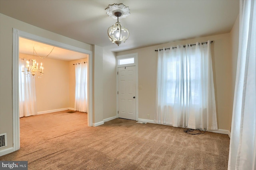
<svg viewBox="0 0 256 170"><path fill-rule="evenodd" d="M117 22L108 28L108 37L112 43L116 43L119 46L122 41L125 42L130 35L128 29L122 27L119 18L125 18L130 15L130 9L124 4L112 4L105 10L108 16L117 19Z"/></svg>

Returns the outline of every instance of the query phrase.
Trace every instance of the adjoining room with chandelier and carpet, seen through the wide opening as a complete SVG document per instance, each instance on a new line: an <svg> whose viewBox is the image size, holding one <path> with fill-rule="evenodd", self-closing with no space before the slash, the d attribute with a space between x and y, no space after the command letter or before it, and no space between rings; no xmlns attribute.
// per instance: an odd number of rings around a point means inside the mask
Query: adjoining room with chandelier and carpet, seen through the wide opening
<svg viewBox="0 0 256 170"><path fill-rule="evenodd" d="M34 71L33 64L36 66ZM84 87L83 92L87 90L87 65L83 66L85 70L81 72L82 64L87 64L86 54L19 38L21 147L35 143L30 134L36 134L38 142L76 131L80 124L87 125L88 96L80 100L79 95L80 87ZM80 82L83 84L80 85ZM83 92L87 95L87 92ZM70 117L72 113L74 116ZM41 114L46 115L39 116ZM38 116L29 117L32 115ZM75 115L80 115L82 119Z"/></svg>

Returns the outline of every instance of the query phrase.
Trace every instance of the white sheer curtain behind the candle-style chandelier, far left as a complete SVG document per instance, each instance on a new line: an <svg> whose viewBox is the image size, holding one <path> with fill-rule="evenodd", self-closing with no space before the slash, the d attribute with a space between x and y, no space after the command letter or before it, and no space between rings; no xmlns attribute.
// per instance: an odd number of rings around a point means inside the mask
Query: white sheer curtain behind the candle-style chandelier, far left
<svg viewBox="0 0 256 170"><path fill-rule="evenodd" d="M20 117L36 115L36 85L35 78L25 75L22 67L26 59L19 59L19 109ZM24 70L26 68L24 67ZM26 72L26 70L25 70Z"/></svg>

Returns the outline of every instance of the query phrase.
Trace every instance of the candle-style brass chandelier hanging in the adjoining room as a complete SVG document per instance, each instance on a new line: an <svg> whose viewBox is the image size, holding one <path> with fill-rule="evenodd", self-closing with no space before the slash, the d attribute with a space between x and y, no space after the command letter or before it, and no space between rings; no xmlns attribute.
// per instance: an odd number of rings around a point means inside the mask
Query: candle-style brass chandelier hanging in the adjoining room
<svg viewBox="0 0 256 170"><path fill-rule="evenodd" d="M36 63L36 60L32 60L33 64L29 65L29 61L27 60L26 64L26 71L24 70L24 66L22 66L22 72L25 75L32 75L34 77L35 75L42 76L44 74L44 67L42 67L42 63L40 68L38 68L38 63Z"/></svg>

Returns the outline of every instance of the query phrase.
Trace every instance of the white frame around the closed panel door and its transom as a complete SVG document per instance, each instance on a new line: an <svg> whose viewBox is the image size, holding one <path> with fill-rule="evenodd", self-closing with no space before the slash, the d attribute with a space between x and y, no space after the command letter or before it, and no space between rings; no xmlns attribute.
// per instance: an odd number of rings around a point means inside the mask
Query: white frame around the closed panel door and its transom
<svg viewBox="0 0 256 170"><path fill-rule="evenodd" d="M134 57L134 64L118 64L118 59L132 58ZM138 92L138 53L132 53L127 55L116 56L116 117L118 117L118 67L135 66L135 81L136 81L136 121L139 117L139 92Z"/></svg>

